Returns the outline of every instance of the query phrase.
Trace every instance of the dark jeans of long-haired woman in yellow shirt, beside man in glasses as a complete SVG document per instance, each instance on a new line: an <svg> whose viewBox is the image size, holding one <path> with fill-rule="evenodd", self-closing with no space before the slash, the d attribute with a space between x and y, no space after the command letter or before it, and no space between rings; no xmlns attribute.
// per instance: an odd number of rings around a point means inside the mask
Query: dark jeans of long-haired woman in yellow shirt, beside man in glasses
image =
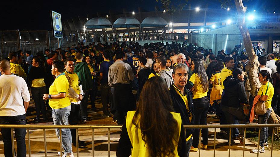
<svg viewBox="0 0 280 157"><path fill-rule="evenodd" d="M207 111L209 109L209 100L207 96L193 99L194 106L194 123L195 125L206 125L207 124ZM202 143L203 145L208 144L208 129L202 129ZM199 143L199 129L195 129L193 133L193 147L197 148Z"/></svg>

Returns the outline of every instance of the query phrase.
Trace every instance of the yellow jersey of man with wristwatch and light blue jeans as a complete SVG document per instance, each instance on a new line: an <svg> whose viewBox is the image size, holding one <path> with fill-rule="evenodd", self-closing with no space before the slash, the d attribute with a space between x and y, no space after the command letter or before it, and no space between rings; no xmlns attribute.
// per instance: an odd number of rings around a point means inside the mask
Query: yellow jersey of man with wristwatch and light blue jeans
<svg viewBox="0 0 280 157"><path fill-rule="evenodd" d="M66 97L62 99L49 99L49 106L52 109L61 109L69 106L70 100L67 96L69 89L69 82L65 76L65 73L61 73L56 77L52 85L49 87L49 94L55 95L59 93L66 93Z"/></svg>

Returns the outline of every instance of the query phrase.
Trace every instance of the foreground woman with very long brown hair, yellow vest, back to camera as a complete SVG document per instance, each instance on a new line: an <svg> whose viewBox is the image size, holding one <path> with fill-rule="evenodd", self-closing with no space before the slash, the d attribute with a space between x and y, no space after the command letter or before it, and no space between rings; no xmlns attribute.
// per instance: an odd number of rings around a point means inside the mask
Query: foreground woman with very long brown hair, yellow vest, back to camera
<svg viewBox="0 0 280 157"><path fill-rule="evenodd" d="M117 156L185 156L182 119L173 112L167 84L161 77L147 80L136 111L127 112L120 136Z"/></svg>

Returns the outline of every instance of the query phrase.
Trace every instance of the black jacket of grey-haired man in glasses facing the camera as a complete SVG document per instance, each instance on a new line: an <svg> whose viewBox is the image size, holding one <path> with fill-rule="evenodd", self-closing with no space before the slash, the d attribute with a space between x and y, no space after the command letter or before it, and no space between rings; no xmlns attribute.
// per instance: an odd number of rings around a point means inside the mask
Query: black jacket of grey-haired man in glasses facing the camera
<svg viewBox="0 0 280 157"><path fill-rule="evenodd" d="M174 84L173 84L174 85ZM168 88L171 100L173 102L173 109L176 113L181 114L181 119L183 125L193 125L194 124L194 107L193 107L193 96L191 92L185 87L184 93L187 94L187 99L188 99L188 105L189 105L189 111L187 111L186 105L184 100L181 98L179 94L177 94L177 89L174 88L174 86L170 86ZM193 119L189 121L189 114L188 112L191 112L193 115ZM186 137L189 137L190 134L193 134L194 129L186 129Z"/></svg>

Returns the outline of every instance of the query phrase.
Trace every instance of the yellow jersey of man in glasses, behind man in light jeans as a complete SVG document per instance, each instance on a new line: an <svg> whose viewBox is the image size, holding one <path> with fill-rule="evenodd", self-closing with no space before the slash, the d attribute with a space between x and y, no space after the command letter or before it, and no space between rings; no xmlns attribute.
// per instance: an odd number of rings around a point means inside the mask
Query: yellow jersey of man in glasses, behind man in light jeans
<svg viewBox="0 0 280 157"><path fill-rule="evenodd" d="M79 77L78 75L74 72L74 73L70 73L65 71L65 76L69 82L69 88L72 88L75 93L77 93L78 95L80 94L80 88L79 88ZM79 100L75 100L72 97L69 97L70 102L78 102Z"/></svg>

